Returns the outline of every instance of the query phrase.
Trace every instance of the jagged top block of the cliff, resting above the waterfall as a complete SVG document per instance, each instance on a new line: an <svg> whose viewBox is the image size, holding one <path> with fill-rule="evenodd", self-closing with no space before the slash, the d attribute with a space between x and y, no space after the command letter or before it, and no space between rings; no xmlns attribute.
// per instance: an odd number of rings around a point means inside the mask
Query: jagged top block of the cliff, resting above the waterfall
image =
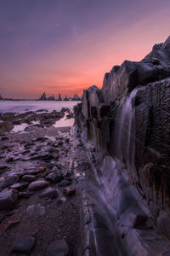
<svg viewBox="0 0 170 256"><path fill-rule="evenodd" d="M115 102L126 96L137 85L146 85L170 76L169 38L164 44L156 44L144 60L124 61L121 67L113 67L105 75L102 95L105 103Z"/></svg>

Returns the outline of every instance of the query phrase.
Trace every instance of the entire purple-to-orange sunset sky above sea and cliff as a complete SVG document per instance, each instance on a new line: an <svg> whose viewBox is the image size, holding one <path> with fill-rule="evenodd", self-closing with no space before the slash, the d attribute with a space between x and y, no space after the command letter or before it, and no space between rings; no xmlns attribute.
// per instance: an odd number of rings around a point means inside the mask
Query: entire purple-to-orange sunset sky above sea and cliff
<svg viewBox="0 0 170 256"><path fill-rule="evenodd" d="M170 35L169 0L0 0L0 94L82 95Z"/></svg>

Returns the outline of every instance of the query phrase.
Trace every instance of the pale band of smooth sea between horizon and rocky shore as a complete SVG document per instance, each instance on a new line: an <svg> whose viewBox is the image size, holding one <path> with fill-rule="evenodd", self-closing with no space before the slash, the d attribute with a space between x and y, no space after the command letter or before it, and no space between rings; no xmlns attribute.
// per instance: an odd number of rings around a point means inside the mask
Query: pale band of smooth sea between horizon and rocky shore
<svg viewBox="0 0 170 256"><path fill-rule="evenodd" d="M0 101L0 113L26 111L37 111L45 109L48 111L59 111L61 108L70 108L71 110L78 102L49 102L49 101Z"/></svg>

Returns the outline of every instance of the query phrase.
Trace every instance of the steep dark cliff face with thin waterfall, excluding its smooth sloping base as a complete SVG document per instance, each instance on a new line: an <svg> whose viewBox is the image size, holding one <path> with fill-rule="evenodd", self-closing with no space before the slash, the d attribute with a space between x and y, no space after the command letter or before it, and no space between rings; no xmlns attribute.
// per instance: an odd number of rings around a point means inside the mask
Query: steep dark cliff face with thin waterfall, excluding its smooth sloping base
<svg viewBox="0 0 170 256"><path fill-rule="evenodd" d="M149 201L159 226L170 218L170 37L139 62L124 61L106 73L101 90L84 90L75 107L82 140L94 145L100 164L118 158ZM108 164L108 173L115 172ZM111 182L111 173L103 172ZM160 214L160 215L159 215ZM144 217L145 218L145 217ZM133 226L145 221L141 215Z"/></svg>

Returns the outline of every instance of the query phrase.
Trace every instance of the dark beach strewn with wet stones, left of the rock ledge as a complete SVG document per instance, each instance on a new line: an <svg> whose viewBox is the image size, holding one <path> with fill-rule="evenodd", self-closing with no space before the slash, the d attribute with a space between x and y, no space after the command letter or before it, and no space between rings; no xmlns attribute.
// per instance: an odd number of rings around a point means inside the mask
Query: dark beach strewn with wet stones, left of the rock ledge
<svg viewBox="0 0 170 256"><path fill-rule="evenodd" d="M71 115L69 111L62 111L54 112L55 118L50 113L44 118L46 115L40 113L43 117L40 125L28 126L30 131L0 132L2 256L13 251L14 243L21 236L29 236L34 241L28 255L44 255L54 241L65 241L68 255L77 255L81 243L81 195L69 172L74 138L71 126L52 125L65 113ZM23 119L31 124L33 118L28 119L28 113L24 113ZM17 119L13 121L17 122ZM31 189L31 186L37 188ZM8 198L8 193L12 193L12 197ZM46 194L44 197L43 193Z"/></svg>

